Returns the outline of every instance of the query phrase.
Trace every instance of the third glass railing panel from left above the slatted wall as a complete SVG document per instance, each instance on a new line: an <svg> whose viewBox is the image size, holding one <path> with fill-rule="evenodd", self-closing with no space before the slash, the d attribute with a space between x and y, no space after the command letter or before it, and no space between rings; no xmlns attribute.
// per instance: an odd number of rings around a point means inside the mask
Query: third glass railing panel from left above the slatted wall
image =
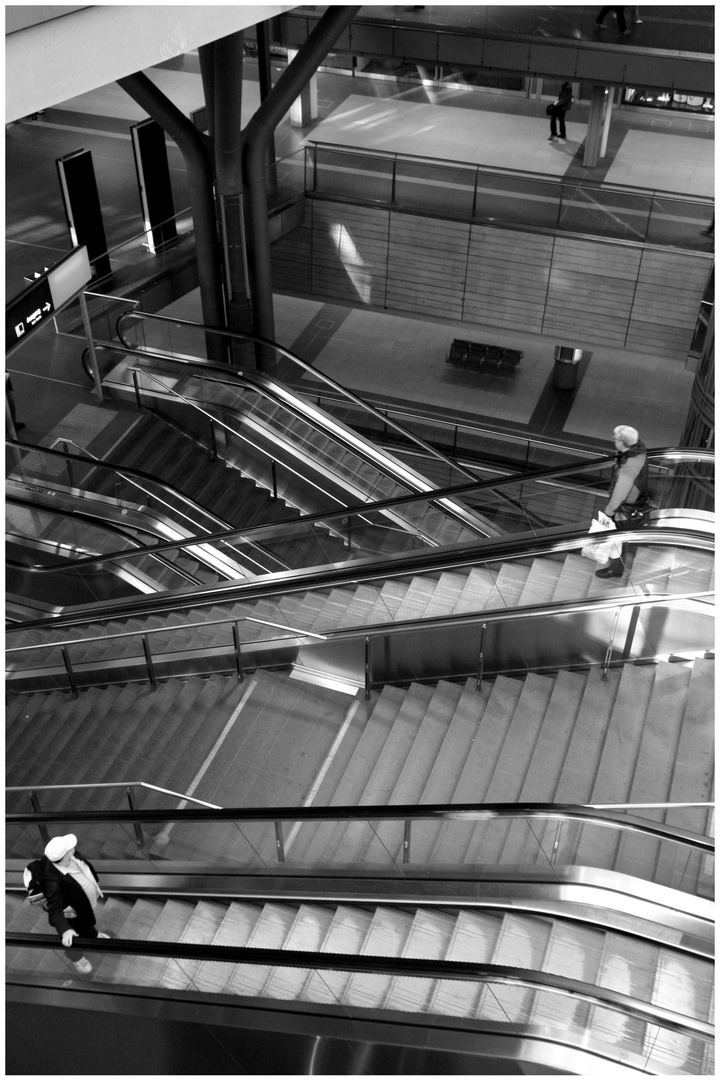
<svg viewBox="0 0 720 1080"><path fill-rule="evenodd" d="M478 172L475 220L515 226L557 226L559 185L532 176Z"/></svg>

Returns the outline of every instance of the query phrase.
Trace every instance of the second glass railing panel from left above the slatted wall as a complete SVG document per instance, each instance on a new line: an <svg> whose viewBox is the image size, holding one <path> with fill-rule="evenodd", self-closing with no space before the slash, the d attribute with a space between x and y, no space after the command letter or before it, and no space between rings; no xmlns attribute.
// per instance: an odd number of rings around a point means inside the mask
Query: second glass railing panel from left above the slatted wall
<svg viewBox="0 0 720 1080"><path fill-rule="evenodd" d="M462 165L432 165L426 161L396 162L395 203L420 213L473 216L476 170Z"/></svg>

